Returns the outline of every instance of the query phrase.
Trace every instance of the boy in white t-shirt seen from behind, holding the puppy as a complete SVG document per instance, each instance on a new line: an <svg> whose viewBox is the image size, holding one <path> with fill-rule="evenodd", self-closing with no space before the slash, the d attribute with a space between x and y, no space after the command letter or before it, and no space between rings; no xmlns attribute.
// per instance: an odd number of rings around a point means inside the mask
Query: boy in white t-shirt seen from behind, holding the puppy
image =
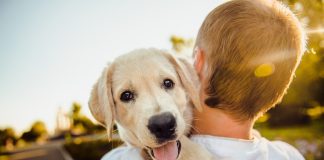
<svg viewBox="0 0 324 160"><path fill-rule="evenodd" d="M233 0L215 8L196 40L194 67L203 112L191 139L221 159L304 159L284 142L252 133L255 120L286 92L304 52L297 18L274 0ZM103 159L136 159L124 147Z"/></svg>

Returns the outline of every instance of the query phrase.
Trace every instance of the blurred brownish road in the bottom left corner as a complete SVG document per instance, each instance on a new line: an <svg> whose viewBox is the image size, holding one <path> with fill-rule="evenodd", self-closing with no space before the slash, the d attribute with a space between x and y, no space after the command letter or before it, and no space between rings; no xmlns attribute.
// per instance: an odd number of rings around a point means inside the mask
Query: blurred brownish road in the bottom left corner
<svg viewBox="0 0 324 160"><path fill-rule="evenodd" d="M63 149L61 141L50 142L44 145L13 152L10 160L72 160L71 156Z"/></svg>

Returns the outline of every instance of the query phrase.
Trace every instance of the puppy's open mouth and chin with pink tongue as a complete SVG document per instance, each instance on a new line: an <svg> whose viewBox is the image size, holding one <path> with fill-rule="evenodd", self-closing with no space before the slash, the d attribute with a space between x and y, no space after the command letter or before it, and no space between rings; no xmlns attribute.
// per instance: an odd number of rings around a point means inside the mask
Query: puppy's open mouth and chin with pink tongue
<svg viewBox="0 0 324 160"><path fill-rule="evenodd" d="M147 147L150 155L155 160L176 160L181 152L181 142L179 140L165 142L158 147Z"/></svg>

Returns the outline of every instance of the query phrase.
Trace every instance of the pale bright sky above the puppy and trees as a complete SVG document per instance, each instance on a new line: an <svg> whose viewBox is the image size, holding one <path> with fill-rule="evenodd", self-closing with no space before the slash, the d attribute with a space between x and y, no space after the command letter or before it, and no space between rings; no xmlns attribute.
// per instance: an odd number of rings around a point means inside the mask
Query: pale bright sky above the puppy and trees
<svg viewBox="0 0 324 160"><path fill-rule="evenodd" d="M1 0L0 128L54 130L59 107L88 99L104 66L136 48L194 38L222 0ZM93 118L92 118L93 119Z"/></svg>

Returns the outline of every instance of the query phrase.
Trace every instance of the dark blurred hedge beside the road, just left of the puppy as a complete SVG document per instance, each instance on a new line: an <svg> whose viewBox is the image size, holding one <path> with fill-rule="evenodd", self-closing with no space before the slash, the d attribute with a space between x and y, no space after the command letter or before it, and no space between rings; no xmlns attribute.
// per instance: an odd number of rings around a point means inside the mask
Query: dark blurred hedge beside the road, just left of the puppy
<svg viewBox="0 0 324 160"><path fill-rule="evenodd" d="M120 146L123 142L120 140L95 140L82 141L76 139L64 145L65 149L70 153L73 159L89 160L100 159L104 154Z"/></svg>

